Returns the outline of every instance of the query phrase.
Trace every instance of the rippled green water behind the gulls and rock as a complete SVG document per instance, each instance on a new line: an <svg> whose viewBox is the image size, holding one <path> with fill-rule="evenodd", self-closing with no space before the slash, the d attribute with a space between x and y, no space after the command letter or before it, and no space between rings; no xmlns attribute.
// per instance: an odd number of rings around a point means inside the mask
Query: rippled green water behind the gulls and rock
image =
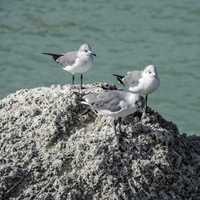
<svg viewBox="0 0 200 200"><path fill-rule="evenodd" d="M71 76L41 52L89 42L95 67L86 82L156 64L150 105L181 131L200 134L199 0L0 0L0 96L65 84Z"/></svg>

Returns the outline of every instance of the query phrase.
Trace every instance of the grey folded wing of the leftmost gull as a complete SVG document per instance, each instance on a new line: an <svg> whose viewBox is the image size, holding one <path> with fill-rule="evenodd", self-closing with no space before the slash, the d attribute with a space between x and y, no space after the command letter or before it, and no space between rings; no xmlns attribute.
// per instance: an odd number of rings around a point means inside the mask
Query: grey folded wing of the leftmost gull
<svg viewBox="0 0 200 200"><path fill-rule="evenodd" d="M59 57L56 62L67 66L67 65L73 65L74 62L77 59L77 51L71 51L63 54L63 56Z"/></svg>

